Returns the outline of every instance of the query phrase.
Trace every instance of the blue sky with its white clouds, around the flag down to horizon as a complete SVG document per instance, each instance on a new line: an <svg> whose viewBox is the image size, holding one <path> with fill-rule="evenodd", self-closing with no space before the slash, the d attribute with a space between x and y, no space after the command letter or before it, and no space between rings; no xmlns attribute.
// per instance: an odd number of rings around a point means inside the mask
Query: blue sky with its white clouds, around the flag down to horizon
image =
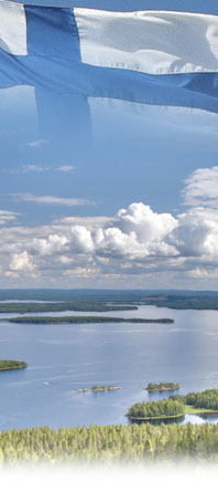
<svg viewBox="0 0 218 481"><path fill-rule="evenodd" d="M199 0L26 3L217 13ZM133 132L121 109L97 115L92 148L84 130L68 142L66 111L51 138L23 105L23 121L0 121L1 287L216 289L217 114L148 113Z"/></svg>

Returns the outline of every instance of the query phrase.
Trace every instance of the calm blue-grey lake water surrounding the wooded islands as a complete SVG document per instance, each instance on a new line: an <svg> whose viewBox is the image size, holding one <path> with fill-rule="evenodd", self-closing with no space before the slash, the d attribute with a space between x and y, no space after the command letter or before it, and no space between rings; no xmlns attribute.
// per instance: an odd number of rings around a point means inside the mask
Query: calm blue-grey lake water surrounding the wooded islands
<svg viewBox="0 0 218 481"><path fill-rule="evenodd" d="M139 306L134 312L56 313L67 314L171 317L175 324L1 322L0 358L25 360L30 367L0 373L0 429L128 424L124 415L134 402L167 397L145 391L150 381L178 381L181 394L218 388L217 311ZM13 316L1 314L0 318ZM74 390L95 384L121 389ZM217 417L186 416L183 422L187 421L217 422Z"/></svg>

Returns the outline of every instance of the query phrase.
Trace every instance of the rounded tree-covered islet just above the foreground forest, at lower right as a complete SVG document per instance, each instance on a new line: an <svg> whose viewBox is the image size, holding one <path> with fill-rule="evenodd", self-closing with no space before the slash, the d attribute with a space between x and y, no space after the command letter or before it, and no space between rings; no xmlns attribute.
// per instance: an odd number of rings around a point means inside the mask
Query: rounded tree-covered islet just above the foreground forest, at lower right
<svg viewBox="0 0 218 481"><path fill-rule="evenodd" d="M159 420L179 418L184 415L184 404L173 399L137 402L129 409L127 414L128 418L131 420Z"/></svg>

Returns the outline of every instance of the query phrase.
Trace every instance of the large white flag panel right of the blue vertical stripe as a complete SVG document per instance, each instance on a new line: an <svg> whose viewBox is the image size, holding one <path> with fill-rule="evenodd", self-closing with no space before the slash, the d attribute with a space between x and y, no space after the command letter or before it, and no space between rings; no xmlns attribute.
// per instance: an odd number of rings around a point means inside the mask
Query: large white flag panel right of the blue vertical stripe
<svg viewBox="0 0 218 481"><path fill-rule="evenodd" d="M218 72L218 17L75 9L81 61L149 74Z"/></svg>

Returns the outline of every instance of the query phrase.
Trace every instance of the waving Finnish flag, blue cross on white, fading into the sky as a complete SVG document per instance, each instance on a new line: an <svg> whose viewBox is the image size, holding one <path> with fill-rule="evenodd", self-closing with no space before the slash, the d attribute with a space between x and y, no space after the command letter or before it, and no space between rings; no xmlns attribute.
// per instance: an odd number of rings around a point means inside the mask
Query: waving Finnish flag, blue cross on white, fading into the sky
<svg viewBox="0 0 218 481"><path fill-rule="evenodd" d="M217 125L217 15L0 1L1 118L72 138L157 112Z"/></svg>

